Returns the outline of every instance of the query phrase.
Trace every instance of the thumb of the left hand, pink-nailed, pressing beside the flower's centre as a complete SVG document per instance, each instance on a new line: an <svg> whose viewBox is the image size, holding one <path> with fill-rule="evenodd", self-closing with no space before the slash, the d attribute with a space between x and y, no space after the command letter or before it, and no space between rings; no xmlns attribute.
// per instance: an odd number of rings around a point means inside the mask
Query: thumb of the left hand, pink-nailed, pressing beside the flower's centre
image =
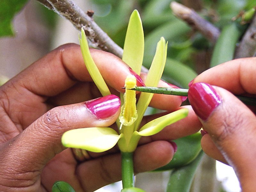
<svg viewBox="0 0 256 192"><path fill-rule="evenodd" d="M8 183L35 186L33 182L38 180L45 164L65 149L61 143L64 132L82 127L107 127L116 121L119 113L120 99L115 95L51 109L1 146L4 155L0 157L0 167L4 167L6 174L0 174L0 186Z"/></svg>

